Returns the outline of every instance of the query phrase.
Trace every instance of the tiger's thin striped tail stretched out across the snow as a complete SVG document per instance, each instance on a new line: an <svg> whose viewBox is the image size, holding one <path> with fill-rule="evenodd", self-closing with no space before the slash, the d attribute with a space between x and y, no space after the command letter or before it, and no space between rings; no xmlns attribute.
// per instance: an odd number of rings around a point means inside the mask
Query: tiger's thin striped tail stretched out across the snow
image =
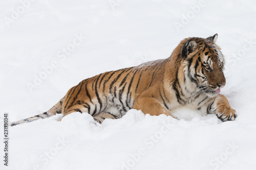
<svg viewBox="0 0 256 170"><path fill-rule="evenodd" d="M11 123L9 126L15 126L15 125L20 125L20 124L24 124L24 123L29 123L29 122L33 122L34 120L40 119L40 118L48 118L50 116L54 116L58 113L61 113L61 109L62 109L62 103L63 103L63 99L62 98L56 105L54 105L50 110L48 110L47 112L29 117L29 118L25 118L23 120L19 120L17 122L13 122Z"/></svg>

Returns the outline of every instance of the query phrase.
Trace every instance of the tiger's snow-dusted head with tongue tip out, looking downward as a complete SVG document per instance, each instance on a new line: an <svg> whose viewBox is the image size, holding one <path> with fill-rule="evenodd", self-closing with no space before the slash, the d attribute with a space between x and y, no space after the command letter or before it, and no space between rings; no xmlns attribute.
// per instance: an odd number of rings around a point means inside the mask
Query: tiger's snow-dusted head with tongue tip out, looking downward
<svg viewBox="0 0 256 170"><path fill-rule="evenodd" d="M183 41L181 57L186 74L198 91L210 97L220 93L226 84L223 74L224 58L216 44L218 34L208 38L187 38Z"/></svg>

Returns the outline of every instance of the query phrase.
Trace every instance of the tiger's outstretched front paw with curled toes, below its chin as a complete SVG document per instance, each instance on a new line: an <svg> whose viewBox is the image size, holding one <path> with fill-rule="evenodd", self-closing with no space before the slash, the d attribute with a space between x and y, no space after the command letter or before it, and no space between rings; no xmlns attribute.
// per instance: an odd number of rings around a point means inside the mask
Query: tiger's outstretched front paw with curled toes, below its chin
<svg viewBox="0 0 256 170"><path fill-rule="evenodd" d="M226 122L227 120L234 120L237 117L236 110L232 109L231 107L220 107L216 111L216 115L222 122Z"/></svg>

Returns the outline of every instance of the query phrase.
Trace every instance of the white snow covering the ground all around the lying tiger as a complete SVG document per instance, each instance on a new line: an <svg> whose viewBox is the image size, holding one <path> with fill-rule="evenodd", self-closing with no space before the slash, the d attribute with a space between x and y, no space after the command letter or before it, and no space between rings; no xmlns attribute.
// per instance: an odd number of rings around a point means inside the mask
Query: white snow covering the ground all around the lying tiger
<svg viewBox="0 0 256 170"><path fill-rule="evenodd" d="M226 60L221 93L238 117L130 110L99 125L87 113L56 115L9 127L1 169L256 169L255 1L22 2L0 2L2 128L6 112L10 122L37 115L83 79L167 58L182 39L216 33Z"/></svg>

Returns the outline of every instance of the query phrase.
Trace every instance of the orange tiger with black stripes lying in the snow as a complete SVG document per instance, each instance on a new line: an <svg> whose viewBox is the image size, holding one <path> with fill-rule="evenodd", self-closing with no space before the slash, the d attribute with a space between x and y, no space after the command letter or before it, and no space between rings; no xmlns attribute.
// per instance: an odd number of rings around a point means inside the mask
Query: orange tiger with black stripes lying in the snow
<svg viewBox="0 0 256 170"><path fill-rule="evenodd" d="M178 119L172 113L180 107L205 115L216 114L222 122L234 120L236 110L220 94L226 79L224 55L216 44L217 38L218 34L208 38L185 38L166 59L85 79L69 89L47 112L19 120L11 126L59 113L64 117L73 112L89 113L101 124L106 118L121 118L130 109Z"/></svg>

